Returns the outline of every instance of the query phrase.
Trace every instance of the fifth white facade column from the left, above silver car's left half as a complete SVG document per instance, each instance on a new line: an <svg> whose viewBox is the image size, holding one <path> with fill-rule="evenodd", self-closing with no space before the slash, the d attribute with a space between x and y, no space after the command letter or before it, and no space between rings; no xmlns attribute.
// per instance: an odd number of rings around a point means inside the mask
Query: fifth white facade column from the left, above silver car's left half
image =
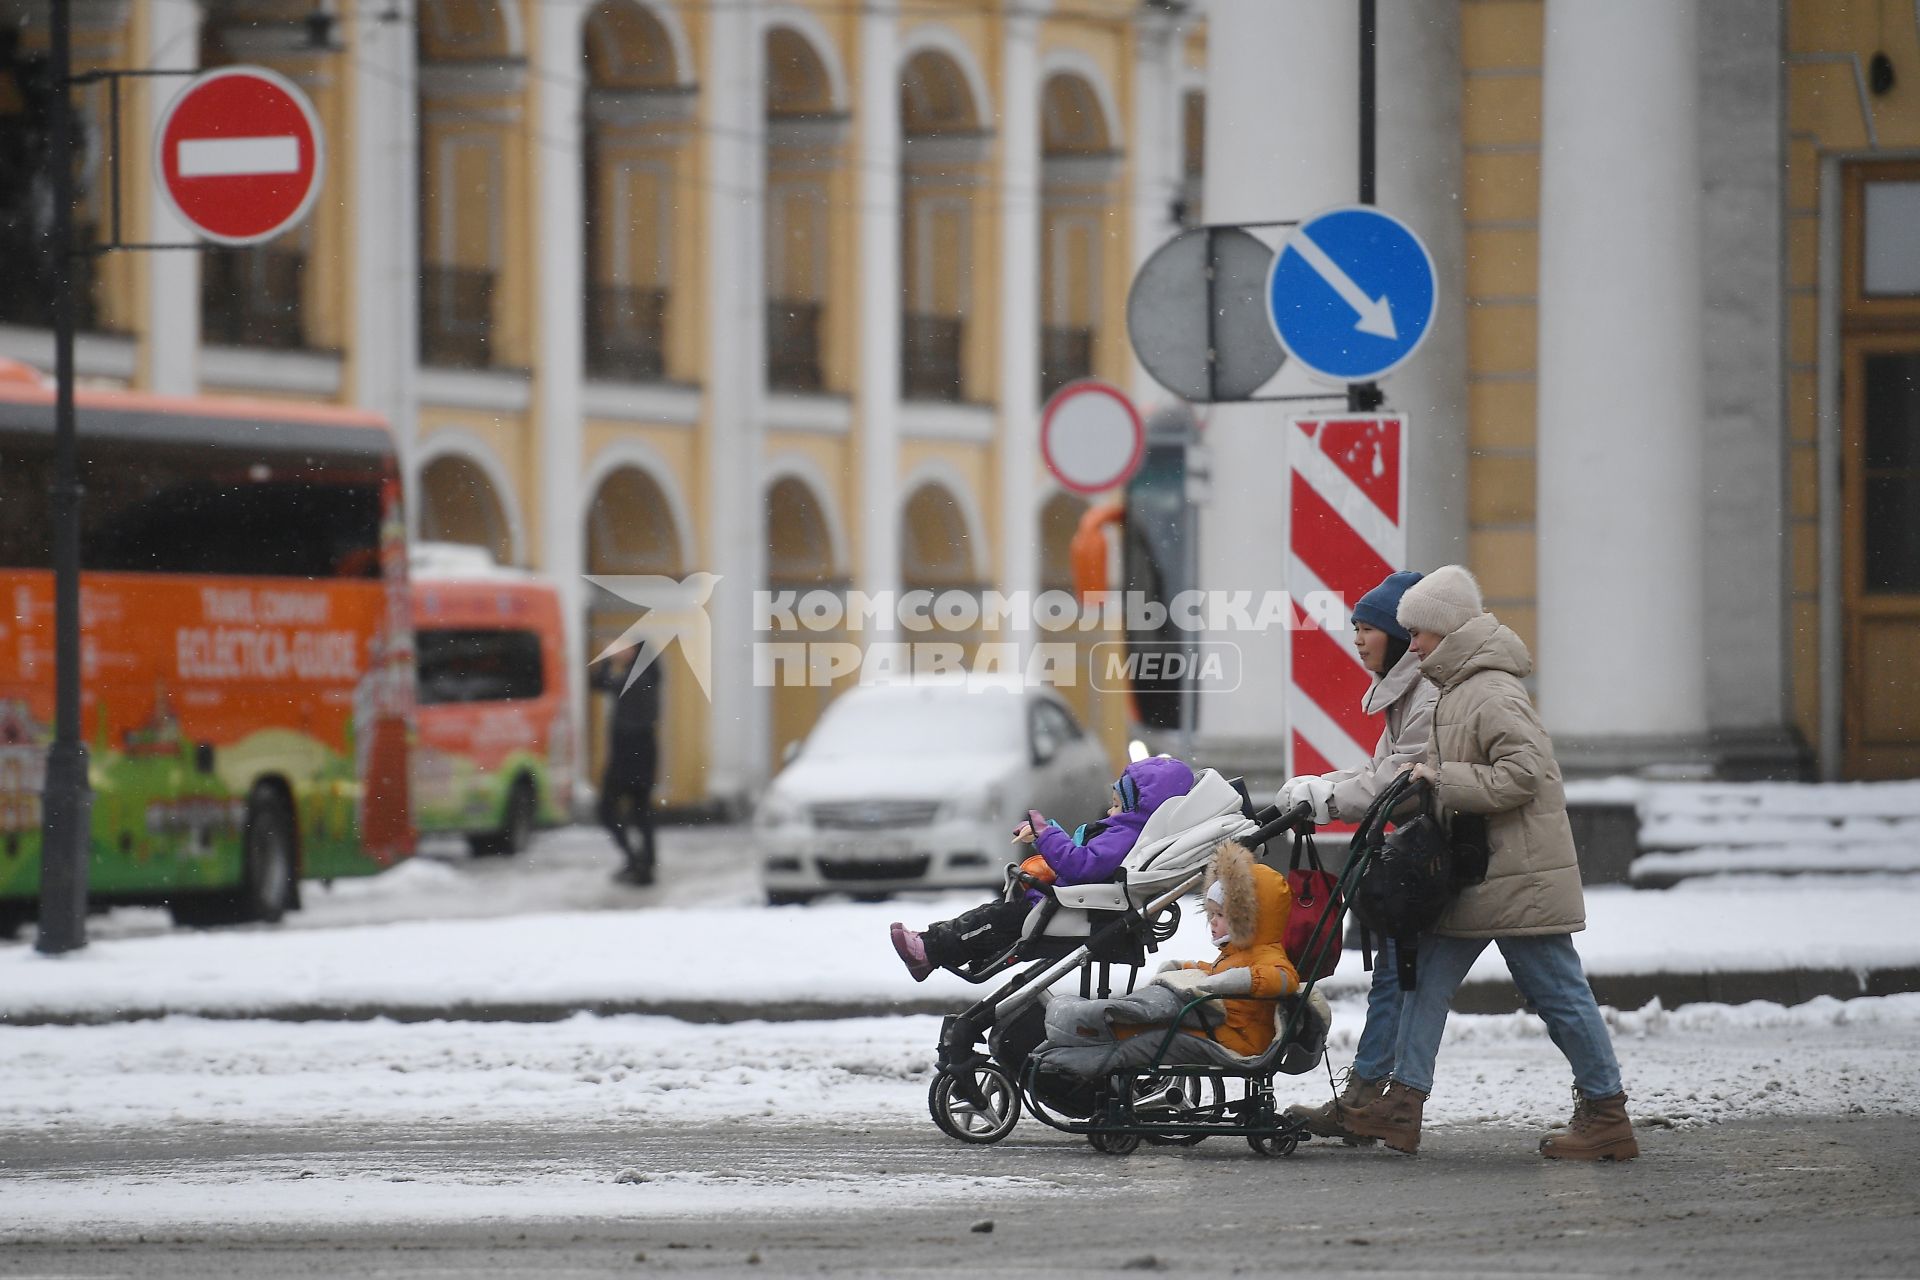
<svg viewBox="0 0 1920 1280"><path fill-rule="evenodd" d="M860 15L860 562L854 585L900 589L900 65L891 6ZM1037 376L1037 374L1035 374ZM879 633L891 631L891 616ZM876 633L868 633L876 639Z"/></svg>

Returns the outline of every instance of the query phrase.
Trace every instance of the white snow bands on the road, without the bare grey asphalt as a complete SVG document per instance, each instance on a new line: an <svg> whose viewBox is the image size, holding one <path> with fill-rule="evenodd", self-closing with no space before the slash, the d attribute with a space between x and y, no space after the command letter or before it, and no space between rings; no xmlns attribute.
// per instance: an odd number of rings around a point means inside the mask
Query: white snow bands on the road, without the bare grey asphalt
<svg viewBox="0 0 1920 1280"><path fill-rule="evenodd" d="M1352 1052L1361 1019L1336 1009L1334 1061ZM207 1023L165 1019L111 1027L0 1032L8 1090L0 1150L111 1140L117 1132L497 1128L660 1134L781 1128L904 1128L929 1150L950 1146L925 1121L937 1019L735 1023L701 1027L657 1017L574 1017L516 1023ZM1832 1115L1912 1117L1920 1111L1920 996L1778 1006L1692 1006L1615 1015L1636 1119L1647 1130L1697 1130L1732 1121ZM1292 1094L1313 1100L1321 1077ZM1428 1107L1432 1148L1475 1126L1532 1130L1567 1109L1559 1054L1538 1021L1455 1017ZM1031 1119L1021 1136L1079 1150ZM1513 1134L1517 1148L1526 1138ZM1219 1148L1238 1146L1219 1142ZM298 1161L296 1161L298 1163ZM601 1163L474 1167L428 1144L417 1157L342 1151L324 1167L205 1161L192 1171L136 1167L102 1176L21 1173L8 1161L15 1234L157 1230L244 1222L467 1222L618 1213L684 1215L753 1207L822 1213L872 1207L872 1197L941 1199L981 1194L977 1180L877 1180L655 1169L622 1184ZM1008 1176L1031 1161L1010 1155ZM394 1186L380 1180L403 1178ZM77 1196L77 1190L86 1194ZM511 1188L501 1190L501 1188ZM369 1194L376 1190L378 1194ZM1027 1188L1048 1190L1046 1186Z"/></svg>

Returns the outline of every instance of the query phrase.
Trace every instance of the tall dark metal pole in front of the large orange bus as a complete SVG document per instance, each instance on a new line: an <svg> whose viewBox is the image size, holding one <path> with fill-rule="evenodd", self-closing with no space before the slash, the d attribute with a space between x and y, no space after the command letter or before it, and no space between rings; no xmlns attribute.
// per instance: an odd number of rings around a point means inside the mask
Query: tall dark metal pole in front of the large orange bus
<svg viewBox="0 0 1920 1280"><path fill-rule="evenodd" d="M73 426L73 0L54 8L54 747L40 789L40 929L35 948L86 946L92 794L81 743L81 474Z"/></svg>

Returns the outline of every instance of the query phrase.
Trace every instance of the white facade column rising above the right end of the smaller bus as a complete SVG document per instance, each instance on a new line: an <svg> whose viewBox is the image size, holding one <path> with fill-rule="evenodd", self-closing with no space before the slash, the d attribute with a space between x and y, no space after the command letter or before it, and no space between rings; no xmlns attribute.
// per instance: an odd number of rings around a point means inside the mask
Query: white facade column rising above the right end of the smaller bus
<svg viewBox="0 0 1920 1280"><path fill-rule="evenodd" d="M541 246L538 274L538 355L534 367L534 415L540 438L540 555L541 568L561 593L566 658L574 681L566 691L572 710L572 758L586 756L586 501L580 478L584 378L586 219L582 192L580 33L584 12L574 0L538 6L540 107L534 144L538 209L534 242Z"/></svg>

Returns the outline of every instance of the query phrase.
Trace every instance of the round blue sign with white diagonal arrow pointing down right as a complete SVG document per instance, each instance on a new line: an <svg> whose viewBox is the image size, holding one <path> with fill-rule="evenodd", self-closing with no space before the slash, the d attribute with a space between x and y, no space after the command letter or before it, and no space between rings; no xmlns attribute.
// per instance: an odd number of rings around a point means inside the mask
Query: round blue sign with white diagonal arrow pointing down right
<svg viewBox="0 0 1920 1280"><path fill-rule="evenodd" d="M1434 259L1373 205L1317 213L1267 274L1267 319L1286 355L1331 382L1373 382L1404 365L1432 326Z"/></svg>

